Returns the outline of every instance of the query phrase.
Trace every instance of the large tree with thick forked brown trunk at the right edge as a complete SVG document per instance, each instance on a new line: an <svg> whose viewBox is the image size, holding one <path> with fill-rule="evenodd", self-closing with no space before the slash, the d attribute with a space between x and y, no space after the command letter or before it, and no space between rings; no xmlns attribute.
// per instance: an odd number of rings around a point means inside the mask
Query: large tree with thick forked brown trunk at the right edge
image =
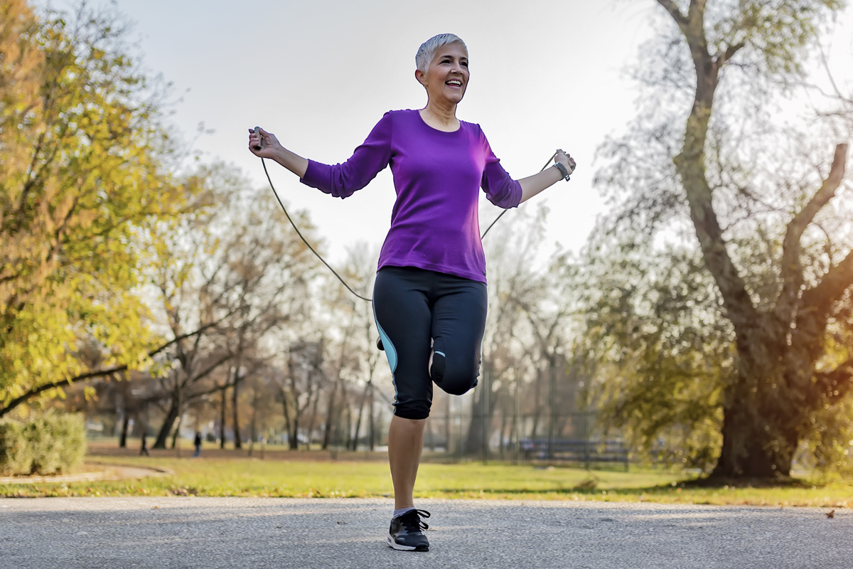
<svg viewBox="0 0 853 569"><path fill-rule="evenodd" d="M838 124L822 132L815 126L798 131L780 125L767 109L785 96L790 101L798 85L808 83L805 69L814 62L822 23L844 3L658 3L676 28L658 44L663 49L647 49L657 66L647 67L645 78L658 97L655 108L641 114L628 135L605 146L615 160L600 172L599 183L628 196L608 220L609 235L619 235L623 253L645 250L654 256L662 241L686 235L683 221L690 224L692 243L682 243L698 247L699 256L673 251L685 263L699 260L700 270L711 277L713 291L701 296L705 306L716 305L711 312L727 328L708 362L721 366L710 373L720 397L709 403L722 410L722 442L712 475L788 476L816 416L842 404L853 385L853 360L833 340L849 334L853 254L838 223L844 204L833 198L844 180L850 131ZM661 100L670 104L660 105ZM681 105L688 112L667 110ZM844 113L849 119L850 108ZM821 135L831 132L838 144L827 153ZM799 161L792 163L792 155ZM621 253L616 258L626 259ZM661 285L667 281L654 278ZM668 284L659 291L661 298L683 283ZM619 297L619 291L612 293ZM637 324L638 341L679 328L659 326L660 313L626 300L630 311L639 308L641 316L651 316L648 331ZM689 299L677 304L670 309L682 315L692 310ZM709 337L722 340L716 332ZM672 340L661 337L645 345ZM726 342L732 348L730 374L721 351ZM691 346L699 348L688 338L681 347ZM677 356L670 363L684 363L702 352L667 353ZM689 374L695 363L679 367L677 373ZM666 375L646 369L649 380ZM710 387L701 391L713 397ZM666 404L672 404L672 396ZM664 423L672 424L676 416L686 421L675 413Z"/></svg>

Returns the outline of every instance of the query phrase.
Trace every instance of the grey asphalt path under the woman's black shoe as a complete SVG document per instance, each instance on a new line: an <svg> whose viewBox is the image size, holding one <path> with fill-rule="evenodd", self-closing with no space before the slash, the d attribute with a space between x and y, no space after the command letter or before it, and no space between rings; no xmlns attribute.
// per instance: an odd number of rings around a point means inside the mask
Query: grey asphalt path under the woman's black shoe
<svg viewBox="0 0 853 569"><path fill-rule="evenodd" d="M392 502L0 499L3 569L853 567L853 512L425 500L428 553L386 546Z"/></svg>

